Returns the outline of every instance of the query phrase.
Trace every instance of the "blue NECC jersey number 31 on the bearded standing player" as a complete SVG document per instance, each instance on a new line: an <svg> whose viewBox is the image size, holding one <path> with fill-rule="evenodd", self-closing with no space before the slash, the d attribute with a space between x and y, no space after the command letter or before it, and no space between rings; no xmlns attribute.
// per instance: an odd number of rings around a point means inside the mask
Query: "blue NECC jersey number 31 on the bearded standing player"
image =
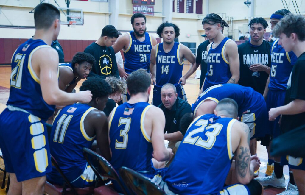
<svg viewBox="0 0 305 195"><path fill-rule="evenodd" d="M138 69L149 69L150 51L152 49L152 38L149 33L145 32L145 40L139 41L131 30L129 35L129 47L124 51L124 69L130 74Z"/></svg>

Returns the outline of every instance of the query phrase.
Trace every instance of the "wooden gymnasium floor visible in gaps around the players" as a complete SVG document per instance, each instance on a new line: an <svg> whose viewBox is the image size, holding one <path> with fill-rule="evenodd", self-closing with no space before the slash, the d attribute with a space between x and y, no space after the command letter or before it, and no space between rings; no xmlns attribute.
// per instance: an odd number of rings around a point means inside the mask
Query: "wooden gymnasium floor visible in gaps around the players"
<svg viewBox="0 0 305 195"><path fill-rule="evenodd" d="M183 75L188 71L190 68L190 65L185 63L185 66L183 68ZM10 66L0 66L0 112L2 112L6 108L6 102L9 98L9 80L10 80L10 73L11 68ZM184 87L185 93L188 98L188 102L190 104L194 103L197 99L198 93L199 93L199 79L194 79L195 73L190 76L190 78L187 80L186 85ZM79 90L79 87L81 86L83 80L81 80L76 87L76 90ZM151 94L149 96L149 103L152 100L152 90ZM257 155L260 158L261 165L260 165L260 172L259 176L264 176L266 171L266 163L267 163L267 151L266 148L257 144ZM0 159L0 167L4 168L3 160ZM284 166L284 174L286 178L286 184L288 183L288 177L289 177L289 171L288 166ZM2 184L3 179L3 172L0 171L0 185ZM7 179L6 179L7 181ZM273 188L273 187L265 187L264 195L275 195L278 193L281 193L283 189L279 188ZM6 194L5 189L0 189L0 195Z"/></svg>

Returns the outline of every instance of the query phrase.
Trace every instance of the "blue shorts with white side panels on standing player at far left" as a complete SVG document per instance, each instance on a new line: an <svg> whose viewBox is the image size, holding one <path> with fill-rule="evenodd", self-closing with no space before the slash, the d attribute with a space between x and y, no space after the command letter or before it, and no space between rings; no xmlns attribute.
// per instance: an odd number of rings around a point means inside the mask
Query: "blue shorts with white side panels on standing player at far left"
<svg viewBox="0 0 305 195"><path fill-rule="evenodd" d="M45 122L23 109L9 105L1 113L0 147L6 171L18 182L52 170Z"/></svg>

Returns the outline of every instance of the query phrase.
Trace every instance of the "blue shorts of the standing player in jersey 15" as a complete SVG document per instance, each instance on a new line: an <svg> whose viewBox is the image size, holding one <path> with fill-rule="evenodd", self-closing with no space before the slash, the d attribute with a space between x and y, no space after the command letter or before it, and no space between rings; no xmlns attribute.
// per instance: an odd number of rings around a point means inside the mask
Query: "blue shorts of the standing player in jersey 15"
<svg viewBox="0 0 305 195"><path fill-rule="evenodd" d="M279 106L284 105L285 103L285 94L286 90L269 90L266 100L267 105L267 111L269 111L271 108L277 108ZM268 128L271 130L272 138L276 138L280 135L280 116L278 116L275 121L269 121L268 120Z"/></svg>

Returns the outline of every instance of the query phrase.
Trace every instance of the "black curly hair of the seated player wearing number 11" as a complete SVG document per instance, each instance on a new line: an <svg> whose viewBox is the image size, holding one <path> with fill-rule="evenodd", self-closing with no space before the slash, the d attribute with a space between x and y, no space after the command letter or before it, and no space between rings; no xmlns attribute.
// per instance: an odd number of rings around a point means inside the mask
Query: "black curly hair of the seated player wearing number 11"
<svg viewBox="0 0 305 195"><path fill-rule="evenodd" d="M85 80L79 90L90 90L92 99L108 96L112 92L111 86L107 81L99 76L93 76Z"/></svg>

